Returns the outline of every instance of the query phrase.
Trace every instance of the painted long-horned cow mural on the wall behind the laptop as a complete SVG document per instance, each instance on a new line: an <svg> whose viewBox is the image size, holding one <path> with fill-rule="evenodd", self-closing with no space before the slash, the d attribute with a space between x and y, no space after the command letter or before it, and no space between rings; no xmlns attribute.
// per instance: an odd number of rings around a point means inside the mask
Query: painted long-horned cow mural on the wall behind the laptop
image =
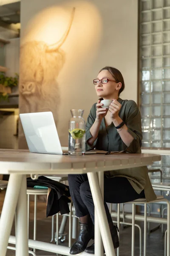
<svg viewBox="0 0 170 256"><path fill-rule="evenodd" d="M74 19L75 8L71 13L68 29L62 38L52 45L43 41L26 42L20 47L20 113L52 111L57 122L59 88L57 77L65 63L62 44L68 38ZM19 127L19 148L26 147L22 142L23 129Z"/></svg>

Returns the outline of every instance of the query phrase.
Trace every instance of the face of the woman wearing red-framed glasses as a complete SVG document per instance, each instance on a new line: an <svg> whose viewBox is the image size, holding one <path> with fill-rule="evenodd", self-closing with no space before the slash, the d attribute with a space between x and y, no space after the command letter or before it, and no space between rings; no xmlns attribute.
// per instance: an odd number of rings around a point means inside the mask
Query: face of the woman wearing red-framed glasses
<svg viewBox="0 0 170 256"><path fill-rule="evenodd" d="M101 80L103 78L108 78L112 81L108 81L106 84L102 84L101 81L99 81L99 83L95 85L97 96L103 99L112 99L113 96L118 96L119 90L116 90L117 82L108 70L102 70L98 74L97 79Z"/></svg>

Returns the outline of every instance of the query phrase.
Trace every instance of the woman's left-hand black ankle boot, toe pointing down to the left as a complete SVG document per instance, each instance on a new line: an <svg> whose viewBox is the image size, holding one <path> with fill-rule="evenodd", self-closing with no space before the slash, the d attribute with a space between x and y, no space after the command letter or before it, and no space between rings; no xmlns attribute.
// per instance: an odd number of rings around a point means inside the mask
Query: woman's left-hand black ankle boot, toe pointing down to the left
<svg viewBox="0 0 170 256"><path fill-rule="evenodd" d="M80 224L79 237L70 249L70 254L75 255L85 250L88 242L94 239L94 228L92 224Z"/></svg>

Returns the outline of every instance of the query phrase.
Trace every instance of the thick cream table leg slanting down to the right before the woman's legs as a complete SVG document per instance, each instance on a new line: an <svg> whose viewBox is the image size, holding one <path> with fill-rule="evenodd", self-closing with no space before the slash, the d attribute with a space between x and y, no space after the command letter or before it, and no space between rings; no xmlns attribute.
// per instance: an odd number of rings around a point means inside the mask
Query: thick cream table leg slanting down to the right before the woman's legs
<svg viewBox="0 0 170 256"><path fill-rule="evenodd" d="M104 172L101 174L102 179L104 179ZM104 204L102 203L102 194L99 187L99 181L97 178L97 173L88 172L88 180L91 187L91 193L93 196L94 207L96 210L96 215L100 220L99 228L102 235L102 241L105 247L106 256L116 256L113 247L113 241L111 238L111 232L108 225L108 219L105 212Z"/></svg>

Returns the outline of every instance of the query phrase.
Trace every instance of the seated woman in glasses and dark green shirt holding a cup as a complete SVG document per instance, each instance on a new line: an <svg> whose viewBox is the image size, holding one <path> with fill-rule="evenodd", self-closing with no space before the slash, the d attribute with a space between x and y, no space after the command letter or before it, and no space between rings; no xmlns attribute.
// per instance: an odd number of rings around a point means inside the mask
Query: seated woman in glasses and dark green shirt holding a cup
<svg viewBox="0 0 170 256"><path fill-rule="evenodd" d="M133 100L119 98L125 88L120 71L113 67L104 67L99 71L97 79L94 79L94 84L100 99L92 106L88 116L87 150L96 148L141 153L141 115ZM102 99L113 100L108 109L102 108ZM68 175L68 182L76 215L80 220L79 237L71 247L70 254L74 255L83 250L93 254L94 244L87 247L88 242L94 238L94 203L88 177L86 174ZM143 197L147 202L156 199L146 166L105 172L105 210L115 248L119 247L117 227L113 225L106 202L125 203Z"/></svg>

